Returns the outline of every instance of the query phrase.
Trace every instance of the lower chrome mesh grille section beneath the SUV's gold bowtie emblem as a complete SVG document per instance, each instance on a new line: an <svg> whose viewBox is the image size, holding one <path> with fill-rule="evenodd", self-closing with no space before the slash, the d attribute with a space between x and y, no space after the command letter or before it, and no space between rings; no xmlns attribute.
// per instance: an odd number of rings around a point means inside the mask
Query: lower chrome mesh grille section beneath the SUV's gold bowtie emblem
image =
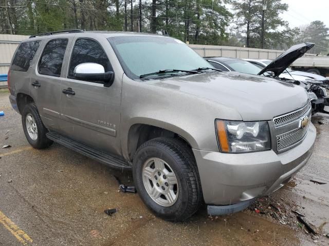
<svg viewBox="0 0 329 246"><path fill-rule="evenodd" d="M278 151L283 151L289 147L297 145L301 142L307 133L309 124L305 127L298 128L291 132L287 132L277 136L277 149Z"/></svg>

